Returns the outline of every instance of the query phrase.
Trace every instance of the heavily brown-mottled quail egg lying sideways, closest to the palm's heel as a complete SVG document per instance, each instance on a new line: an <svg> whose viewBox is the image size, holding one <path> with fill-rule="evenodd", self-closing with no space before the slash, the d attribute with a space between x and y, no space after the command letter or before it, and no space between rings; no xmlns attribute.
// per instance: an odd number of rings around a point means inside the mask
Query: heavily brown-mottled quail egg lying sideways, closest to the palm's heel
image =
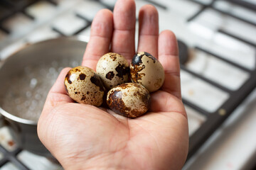
<svg viewBox="0 0 256 170"><path fill-rule="evenodd" d="M119 115L137 118L148 111L149 91L141 84L125 83L107 93L107 105Z"/></svg>

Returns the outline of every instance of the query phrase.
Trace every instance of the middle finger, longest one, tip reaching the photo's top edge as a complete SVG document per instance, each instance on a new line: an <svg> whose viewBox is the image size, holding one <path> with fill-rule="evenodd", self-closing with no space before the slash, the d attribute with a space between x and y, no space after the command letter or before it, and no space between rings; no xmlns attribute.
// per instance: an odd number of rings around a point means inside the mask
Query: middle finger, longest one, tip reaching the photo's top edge
<svg viewBox="0 0 256 170"><path fill-rule="evenodd" d="M134 0L119 0L114 6L114 31L112 37L112 52L132 60L135 53L135 2Z"/></svg>

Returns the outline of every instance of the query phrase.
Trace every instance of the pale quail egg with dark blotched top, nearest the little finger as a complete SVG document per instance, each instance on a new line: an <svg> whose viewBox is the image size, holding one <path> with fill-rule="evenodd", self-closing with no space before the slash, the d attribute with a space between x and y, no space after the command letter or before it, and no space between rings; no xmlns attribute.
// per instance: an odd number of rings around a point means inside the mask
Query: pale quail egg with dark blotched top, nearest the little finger
<svg viewBox="0 0 256 170"><path fill-rule="evenodd" d="M130 64L132 82L142 84L149 92L157 91L164 84L164 68L148 52L138 52Z"/></svg>

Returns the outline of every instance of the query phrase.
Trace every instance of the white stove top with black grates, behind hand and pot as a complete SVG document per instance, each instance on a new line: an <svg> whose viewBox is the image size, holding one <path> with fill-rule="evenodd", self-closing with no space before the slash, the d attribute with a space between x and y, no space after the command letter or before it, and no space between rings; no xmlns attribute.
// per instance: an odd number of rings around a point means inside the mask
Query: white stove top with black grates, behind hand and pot
<svg viewBox="0 0 256 170"><path fill-rule="evenodd" d="M26 43L70 35L83 35L89 40L95 13L101 8L112 10L114 3L0 1L0 62ZM178 38L181 89L190 135L189 160L255 89L256 2L137 0L137 16L144 4L153 4L159 10L159 30L173 30ZM20 149L6 127L0 129L0 167L62 169Z"/></svg>

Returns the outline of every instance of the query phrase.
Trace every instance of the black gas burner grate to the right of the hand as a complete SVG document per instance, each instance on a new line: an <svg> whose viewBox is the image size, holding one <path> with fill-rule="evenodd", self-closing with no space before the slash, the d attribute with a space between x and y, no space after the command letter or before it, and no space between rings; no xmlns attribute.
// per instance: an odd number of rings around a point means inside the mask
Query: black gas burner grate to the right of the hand
<svg viewBox="0 0 256 170"><path fill-rule="evenodd" d="M211 9L218 11L220 13L223 13L227 16L237 18L240 21L243 21L245 23L250 23L253 26L256 26L255 23L251 23L250 21L247 21L243 18L234 16L230 13L226 13L226 12L220 11L217 8L215 8L214 4L218 0L213 0L208 5L203 4L201 1L197 1L197 0L191 0L191 1L194 1L198 4L203 5L203 8L201 8L201 11L198 11L195 15L191 16L191 18L188 19L188 22L193 21L193 19L198 17L198 15L200 13L202 13L204 10L206 10L207 8L211 8ZM230 0L225 0L225 1L230 1ZM234 4L238 4L239 6L243 6L245 8L250 8L253 11L256 11L256 6L254 4L250 4L249 2L246 2L246 1L230 1L230 2L232 2ZM223 33L225 35L230 36L231 38L235 38L237 40L245 42L247 45L251 45L252 47L254 47L256 49L255 43L250 42L248 40L244 40L242 38L238 38L238 36L233 35L232 33L228 33L227 31L225 31L221 28L218 29L217 32ZM242 67L240 64L236 64L235 62L232 62L230 60L225 60L225 58L223 58L219 55L215 55L213 52L209 52L208 50L204 50L201 47L194 47L194 48L196 50L201 50L203 52L206 52L210 56L218 58L218 60L222 60L223 62L232 64L233 67L239 68L239 69L247 72L248 74L250 74L250 77L247 79L247 81L244 82L244 84L242 84L242 86L240 86L240 88L238 90L232 91L232 90L226 88L225 86L222 86L222 85L216 83L215 81L207 79L206 77L203 77L202 75L187 69L185 65L181 64L181 70L188 72L189 74L193 75L194 77L197 77L198 79L206 81L208 84L211 84L211 85L215 86L216 88L221 89L222 91L225 91L229 94L228 100L226 100L214 113L210 113L210 112L204 110L203 108L201 108L200 106L196 106L195 104L193 104L190 101L187 101L186 99L183 98L183 103L185 105L190 106L191 108L194 108L196 111L198 111L198 113L201 113L202 115L207 116L206 121L190 137L187 160L190 159L193 156L193 154L196 153L196 151L203 145L203 143L206 142L206 140L208 140L208 137L210 137L210 135L212 135L213 132L215 132L215 130L217 130L220 127L220 125L222 125L222 123L229 117L229 115L231 115L233 113L235 108L237 108L240 105L240 103L242 103L242 101L244 101L244 99L256 87L256 79L255 79L255 77L256 77L256 62L255 62L255 69L250 70L245 67ZM255 61L256 61L256 55L255 55Z"/></svg>

